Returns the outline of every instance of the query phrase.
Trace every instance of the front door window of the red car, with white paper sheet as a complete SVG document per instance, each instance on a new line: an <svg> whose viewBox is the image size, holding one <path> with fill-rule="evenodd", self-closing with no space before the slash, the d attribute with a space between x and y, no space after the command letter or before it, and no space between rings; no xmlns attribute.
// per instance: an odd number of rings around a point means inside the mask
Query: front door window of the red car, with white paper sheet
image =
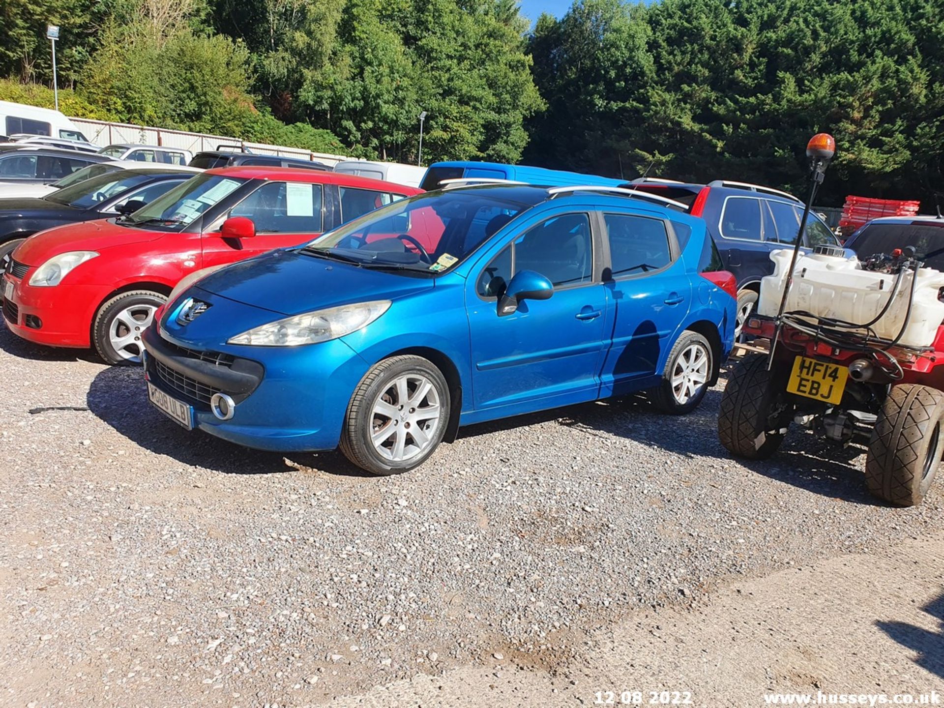
<svg viewBox="0 0 944 708"><path fill-rule="evenodd" d="M256 232L320 233L320 184L266 182L229 211L230 216L252 219Z"/></svg>

